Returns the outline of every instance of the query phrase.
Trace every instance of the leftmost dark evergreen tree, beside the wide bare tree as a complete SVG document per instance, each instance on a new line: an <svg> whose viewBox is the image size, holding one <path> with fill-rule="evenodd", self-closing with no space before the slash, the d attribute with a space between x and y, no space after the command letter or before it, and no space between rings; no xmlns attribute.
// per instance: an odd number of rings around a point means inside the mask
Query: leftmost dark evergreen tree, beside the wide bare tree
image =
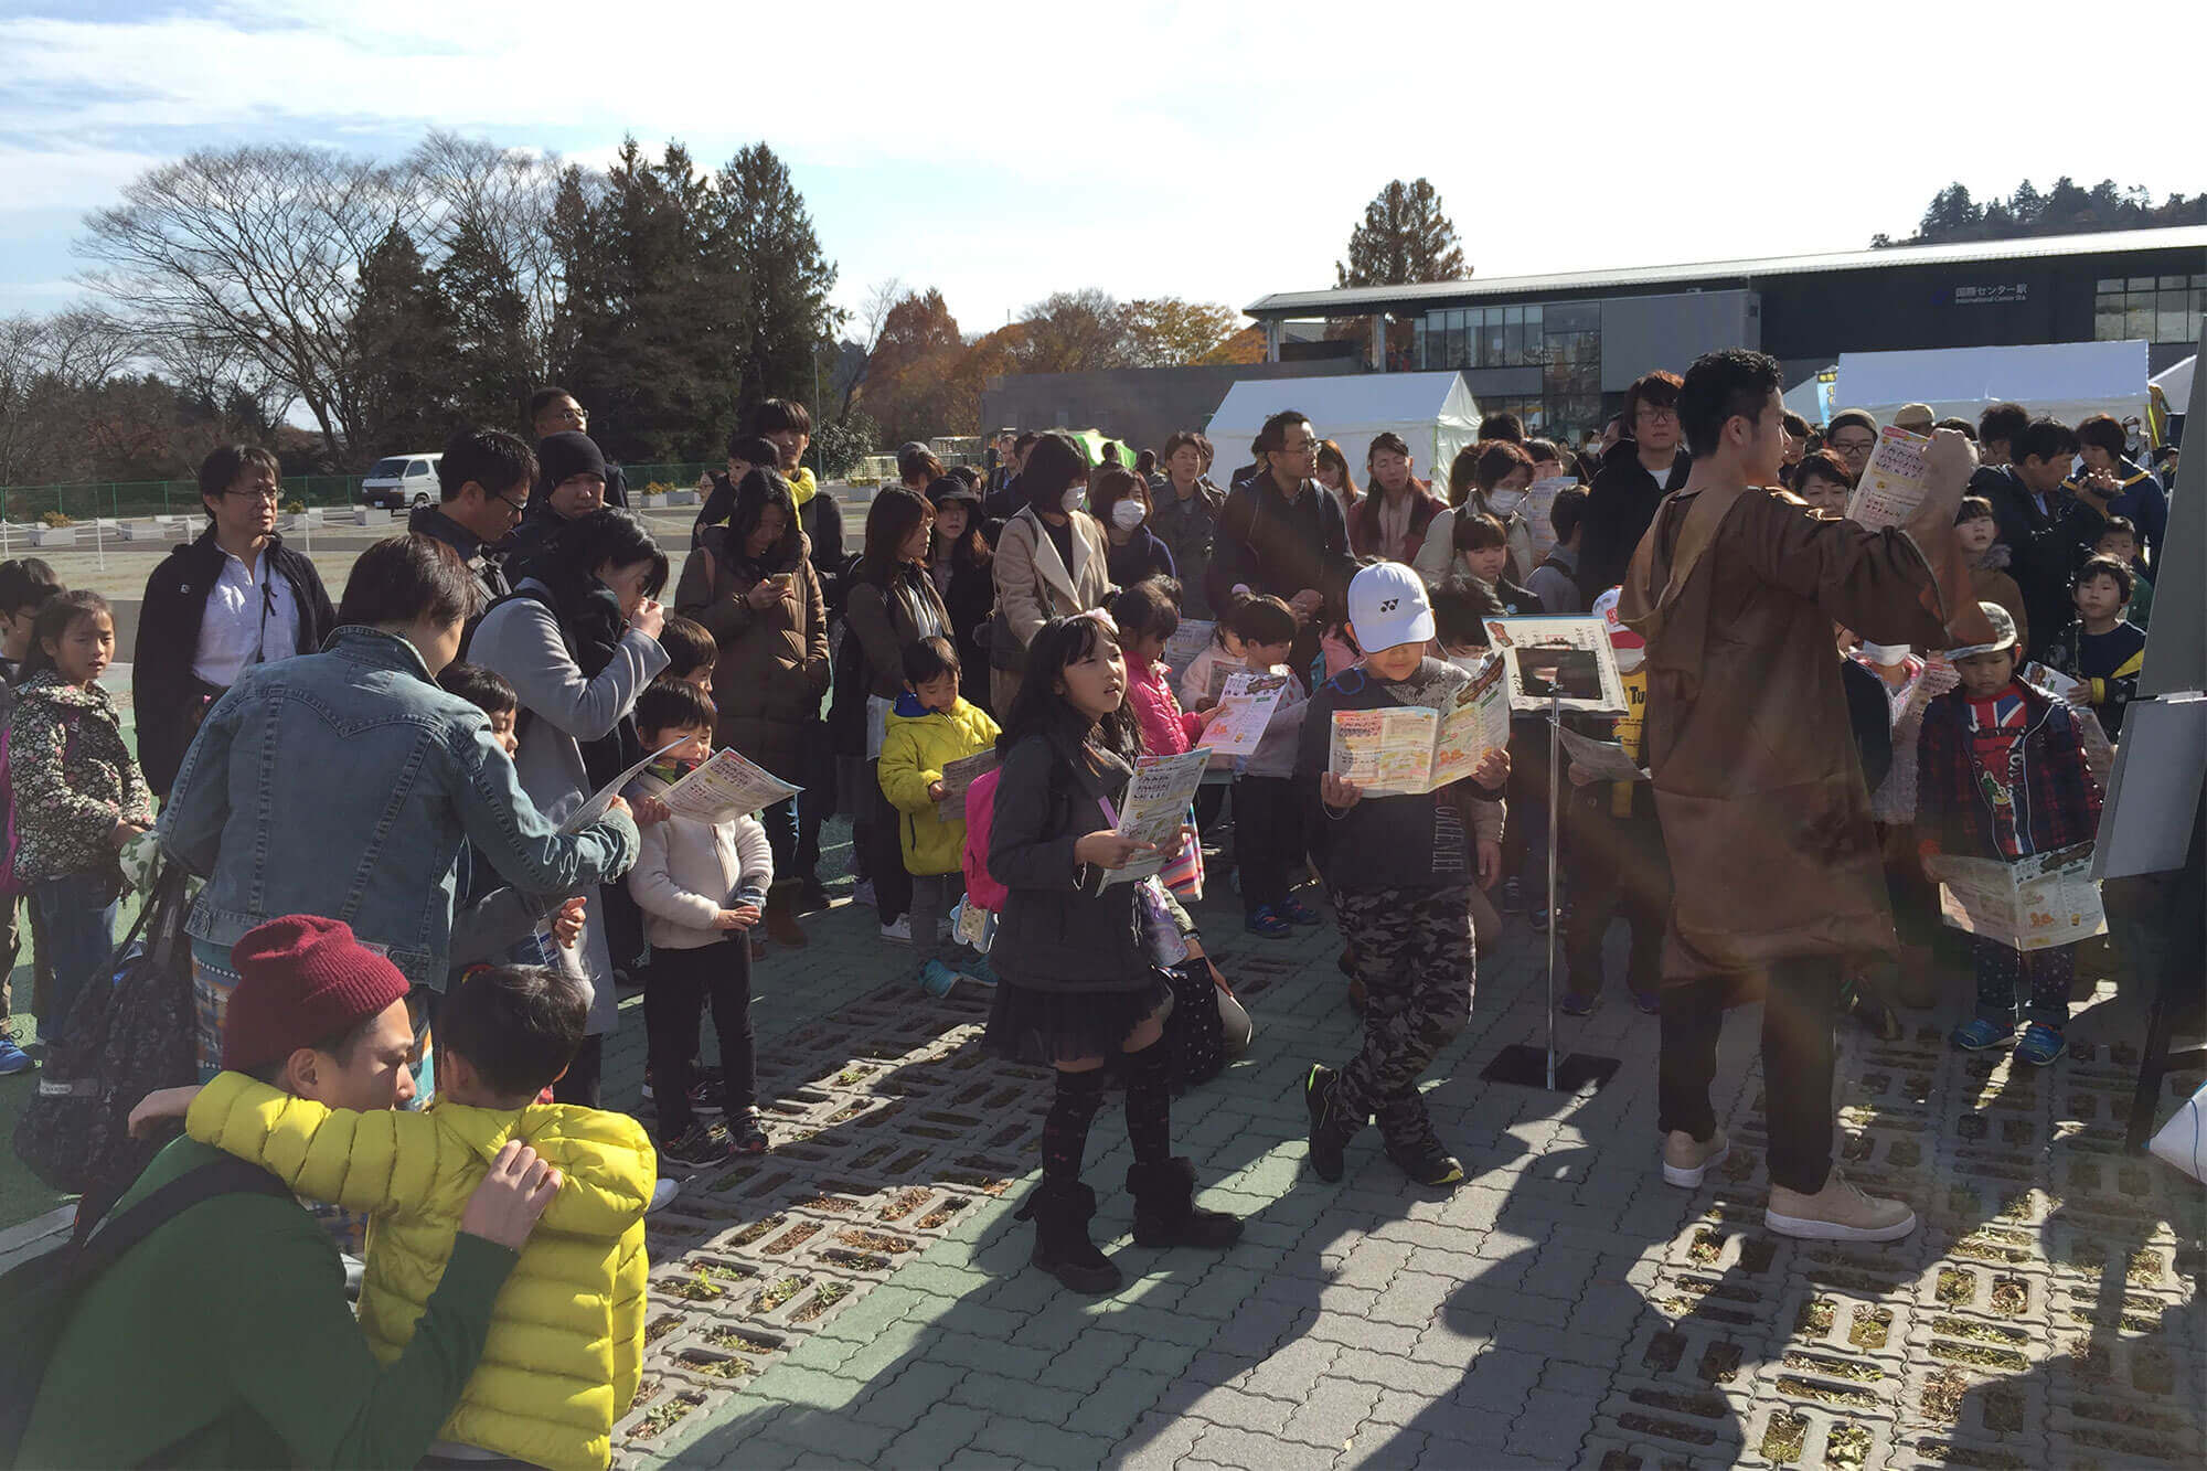
<svg viewBox="0 0 2207 1471"><path fill-rule="evenodd" d="M444 444L452 422L452 311L404 225L391 225L360 265L351 320L360 369L346 393L362 462Z"/></svg>

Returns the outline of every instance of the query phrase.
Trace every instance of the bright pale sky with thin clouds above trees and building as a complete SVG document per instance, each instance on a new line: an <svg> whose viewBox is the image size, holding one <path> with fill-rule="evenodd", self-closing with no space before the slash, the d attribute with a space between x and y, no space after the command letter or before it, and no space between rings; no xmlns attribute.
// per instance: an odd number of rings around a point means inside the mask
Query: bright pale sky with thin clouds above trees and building
<svg viewBox="0 0 2207 1471"><path fill-rule="evenodd" d="M2097 15L0 0L0 316L77 300L84 212L166 159L388 159L433 126L583 163L627 133L700 163L764 139L839 305L940 287L967 334L1057 289L1245 307L1331 285L1395 177L1432 179L1479 276L1858 250L1953 179L2207 190L2181 115L2207 7Z"/></svg>

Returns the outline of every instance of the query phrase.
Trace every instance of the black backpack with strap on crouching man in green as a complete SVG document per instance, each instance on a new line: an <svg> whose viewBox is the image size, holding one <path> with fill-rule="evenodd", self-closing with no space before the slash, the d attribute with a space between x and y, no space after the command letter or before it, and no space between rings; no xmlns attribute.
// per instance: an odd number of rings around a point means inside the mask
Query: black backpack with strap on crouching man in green
<svg viewBox="0 0 2207 1471"><path fill-rule="evenodd" d="M199 1202L241 1193L291 1195L258 1164L223 1155L104 1219L88 1239L33 1257L0 1277L0 1323L7 1323L7 1334L0 1334L0 1467L13 1467L22 1451L46 1365L84 1290L124 1252Z"/></svg>

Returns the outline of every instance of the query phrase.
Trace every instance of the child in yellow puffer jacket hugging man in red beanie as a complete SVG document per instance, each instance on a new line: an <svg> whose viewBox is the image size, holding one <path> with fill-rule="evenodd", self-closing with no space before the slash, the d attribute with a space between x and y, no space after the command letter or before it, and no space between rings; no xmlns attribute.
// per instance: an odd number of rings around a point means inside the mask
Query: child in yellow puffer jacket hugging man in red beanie
<svg viewBox="0 0 2207 1471"><path fill-rule="evenodd" d="M481 1363L430 1444L603 1471L636 1398L644 1347L644 1206L658 1157L644 1129L576 1104L536 1104L583 1043L589 1003L556 970L470 970L437 1009L437 1102L353 1113L245 1073L154 1093L201 1144L249 1160L300 1195L369 1215L360 1327L393 1363L437 1290L468 1195L508 1140L565 1177L492 1308ZM185 1111L188 1104L188 1111Z"/></svg>

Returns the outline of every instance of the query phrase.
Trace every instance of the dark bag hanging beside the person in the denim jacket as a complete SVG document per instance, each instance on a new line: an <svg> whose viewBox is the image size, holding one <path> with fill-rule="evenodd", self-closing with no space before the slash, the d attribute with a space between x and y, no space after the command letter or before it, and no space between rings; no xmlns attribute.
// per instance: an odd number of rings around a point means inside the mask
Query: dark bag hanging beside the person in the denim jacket
<svg viewBox="0 0 2207 1471"><path fill-rule="evenodd" d="M15 1122L15 1157L55 1190L113 1199L161 1149L130 1137L130 1109L154 1089L199 1082L190 908L185 870L168 864L115 959L46 1038L38 1096Z"/></svg>

